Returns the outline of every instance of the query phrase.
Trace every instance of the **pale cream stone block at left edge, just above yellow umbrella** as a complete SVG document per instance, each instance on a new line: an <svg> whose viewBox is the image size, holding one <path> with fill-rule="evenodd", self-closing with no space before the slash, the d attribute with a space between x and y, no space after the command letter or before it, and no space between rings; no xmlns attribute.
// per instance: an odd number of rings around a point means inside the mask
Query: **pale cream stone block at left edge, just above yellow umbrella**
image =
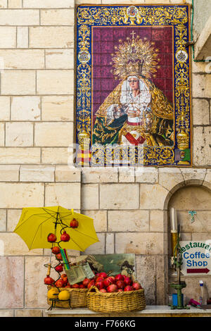
<svg viewBox="0 0 211 331"><path fill-rule="evenodd" d="M0 183L0 208L40 207L44 203L41 183Z"/></svg>

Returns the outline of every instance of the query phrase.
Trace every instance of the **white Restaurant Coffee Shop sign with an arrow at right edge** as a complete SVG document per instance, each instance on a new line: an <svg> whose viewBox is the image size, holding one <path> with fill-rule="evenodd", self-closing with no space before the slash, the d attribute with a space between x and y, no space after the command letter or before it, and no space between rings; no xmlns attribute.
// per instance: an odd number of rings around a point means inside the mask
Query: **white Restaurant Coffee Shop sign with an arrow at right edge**
<svg viewBox="0 0 211 331"><path fill-rule="evenodd" d="M211 274L211 239L203 242L180 242L183 275Z"/></svg>

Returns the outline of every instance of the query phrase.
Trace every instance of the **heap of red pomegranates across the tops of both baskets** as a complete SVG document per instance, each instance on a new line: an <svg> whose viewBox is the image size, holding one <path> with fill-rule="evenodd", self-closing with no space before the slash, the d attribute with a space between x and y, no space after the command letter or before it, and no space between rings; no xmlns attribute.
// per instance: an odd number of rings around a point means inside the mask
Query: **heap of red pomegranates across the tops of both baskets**
<svg viewBox="0 0 211 331"><path fill-rule="evenodd" d="M106 273L98 273L93 279L85 278L83 282L72 285L72 288L89 289L96 286L100 292L123 292L142 289L139 282L133 282L131 277L124 275L108 276Z"/></svg>

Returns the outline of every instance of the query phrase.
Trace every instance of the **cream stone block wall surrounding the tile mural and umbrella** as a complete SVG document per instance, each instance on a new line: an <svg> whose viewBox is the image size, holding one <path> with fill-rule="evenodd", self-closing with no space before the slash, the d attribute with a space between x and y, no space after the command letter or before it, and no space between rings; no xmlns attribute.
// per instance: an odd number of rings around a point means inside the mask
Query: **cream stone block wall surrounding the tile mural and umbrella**
<svg viewBox="0 0 211 331"><path fill-rule="evenodd" d="M160 2L184 3L116 0L115 4ZM77 1L82 3L85 0ZM188 185L211 189L211 76L205 73L206 63L193 63L192 169L68 167L74 127L74 6L73 0L0 0L0 59L4 61L0 89L0 239L4 242L0 292L4 299L0 316L42 316L47 307L43 279L49 251L28 251L13 233L21 208L60 204L94 217L100 242L85 253L135 253L137 278L146 289L148 304L164 304L170 198ZM72 260L78 254L69 252Z"/></svg>

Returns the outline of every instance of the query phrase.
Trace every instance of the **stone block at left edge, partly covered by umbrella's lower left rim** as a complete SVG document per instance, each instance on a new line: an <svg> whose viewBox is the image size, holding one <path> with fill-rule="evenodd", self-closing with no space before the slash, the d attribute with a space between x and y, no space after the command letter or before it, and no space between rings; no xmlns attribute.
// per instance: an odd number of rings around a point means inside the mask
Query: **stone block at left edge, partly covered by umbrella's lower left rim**
<svg viewBox="0 0 211 331"><path fill-rule="evenodd" d="M32 249L29 251L23 239L16 233L1 232L0 239L4 242L4 256L42 256L43 254L42 249Z"/></svg>

